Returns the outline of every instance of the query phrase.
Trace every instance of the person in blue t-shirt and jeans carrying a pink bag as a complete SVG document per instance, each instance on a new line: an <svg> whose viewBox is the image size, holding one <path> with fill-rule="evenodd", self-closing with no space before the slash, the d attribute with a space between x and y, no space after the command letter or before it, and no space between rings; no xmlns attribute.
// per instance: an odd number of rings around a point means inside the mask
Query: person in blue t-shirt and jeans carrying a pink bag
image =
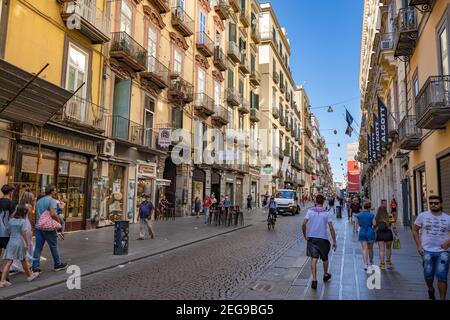
<svg viewBox="0 0 450 320"><path fill-rule="evenodd" d="M36 203L36 248L33 253L33 272L41 272L40 258L45 242L50 247L50 252L53 257L54 270L64 270L67 268L67 263L60 260L58 250L58 230L61 230L61 222L56 209L58 207L56 200L56 188L54 186L47 186L45 188L45 197L39 199Z"/></svg>

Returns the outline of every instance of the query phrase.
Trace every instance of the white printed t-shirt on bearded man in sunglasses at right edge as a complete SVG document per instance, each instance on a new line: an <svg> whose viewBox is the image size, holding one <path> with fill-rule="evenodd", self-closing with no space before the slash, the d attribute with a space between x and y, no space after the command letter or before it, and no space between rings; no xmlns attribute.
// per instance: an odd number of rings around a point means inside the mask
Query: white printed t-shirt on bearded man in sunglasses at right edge
<svg viewBox="0 0 450 320"><path fill-rule="evenodd" d="M421 228L420 240L425 251L444 251L441 245L450 239L450 216L447 213L434 216L426 211L417 217L414 224Z"/></svg>

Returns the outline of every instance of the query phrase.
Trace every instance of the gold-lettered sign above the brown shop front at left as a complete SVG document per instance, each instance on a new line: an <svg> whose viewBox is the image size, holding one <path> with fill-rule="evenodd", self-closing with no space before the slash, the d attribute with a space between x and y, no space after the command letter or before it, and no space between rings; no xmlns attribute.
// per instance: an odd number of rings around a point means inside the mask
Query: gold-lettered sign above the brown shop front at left
<svg viewBox="0 0 450 320"><path fill-rule="evenodd" d="M25 136L24 139L29 139L30 137L39 139L39 129L35 127L24 125L23 133L29 136ZM44 128L42 130L41 139L44 144L55 145L64 149L79 151L82 153L97 153L97 143L95 141L82 139L76 135L69 135L54 129Z"/></svg>

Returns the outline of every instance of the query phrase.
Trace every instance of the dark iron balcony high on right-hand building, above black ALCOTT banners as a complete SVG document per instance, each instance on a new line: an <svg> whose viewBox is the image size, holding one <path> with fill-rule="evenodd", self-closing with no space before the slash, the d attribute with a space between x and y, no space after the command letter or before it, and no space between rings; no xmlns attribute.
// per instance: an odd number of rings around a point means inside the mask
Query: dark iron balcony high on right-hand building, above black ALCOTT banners
<svg viewBox="0 0 450 320"><path fill-rule="evenodd" d="M419 35L417 11L415 8L402 8L395 18L395 57L411 56Z"/></svg>

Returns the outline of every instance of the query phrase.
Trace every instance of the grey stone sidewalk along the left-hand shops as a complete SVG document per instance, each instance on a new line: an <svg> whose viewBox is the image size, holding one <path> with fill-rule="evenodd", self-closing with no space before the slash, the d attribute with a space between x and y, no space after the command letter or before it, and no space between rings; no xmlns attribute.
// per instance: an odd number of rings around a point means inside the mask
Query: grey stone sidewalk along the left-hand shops
<svg viewBox="0 0 450 320"><path fill-rule="evenodd" d="M89 231L68 233L65 240L60 241L60 255L69 265L81 268L82 276L111 269L155 255L162 255L183 246L207 240L222 234L247 228L265 221L261 209L248 212L244 210L243 227L224 227L205 225L203 217L177 218L175 221L155 221L155 239L139 241L139 225L130 225L129 251L126 256L113 255L114 228L106 227ZM23 274L10 277L13 284L8 288L0 288L0 299L12 299L25 293L65 283L69 275L64 271L53 271L53 259L48 246L44 246L41 262L42 273L38 279L28 283Z"/></svg>

